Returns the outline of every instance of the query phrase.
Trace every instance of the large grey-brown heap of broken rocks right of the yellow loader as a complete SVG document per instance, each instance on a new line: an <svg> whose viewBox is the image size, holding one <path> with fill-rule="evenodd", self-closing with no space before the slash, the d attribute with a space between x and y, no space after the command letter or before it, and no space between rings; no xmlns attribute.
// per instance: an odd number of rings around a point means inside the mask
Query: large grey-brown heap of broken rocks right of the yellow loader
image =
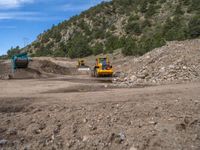
<svg viewBox="0 0 200 150"><path fill-rule="evenodd" d="M200 40L169 42L129 62L126 77L114 79L120 86L164 84L200 79ZM127 63L126 63L127 65Z"/></svg>

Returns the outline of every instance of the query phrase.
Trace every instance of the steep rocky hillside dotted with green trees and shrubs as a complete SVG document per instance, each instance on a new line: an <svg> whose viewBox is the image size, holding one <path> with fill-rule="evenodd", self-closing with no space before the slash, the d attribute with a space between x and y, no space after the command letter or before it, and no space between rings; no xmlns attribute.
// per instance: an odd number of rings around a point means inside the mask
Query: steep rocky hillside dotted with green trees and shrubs
<svg viewBox="0 0 200 150"><path fill-rule="evenodd" d="M200 36L199 0L112 0L40 34L32 56L143 55L167 41Z"/></svg>

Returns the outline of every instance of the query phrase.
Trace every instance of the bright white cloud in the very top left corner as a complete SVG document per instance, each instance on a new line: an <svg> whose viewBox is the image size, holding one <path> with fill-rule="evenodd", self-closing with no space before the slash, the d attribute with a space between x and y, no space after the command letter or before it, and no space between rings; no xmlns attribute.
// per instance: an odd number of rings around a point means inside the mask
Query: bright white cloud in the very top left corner
<svg viewBox="0 0 200 150"><path fill-rule="evenodd" d="M17 8L25 3L32 3L34 0L0 0L0 9Z"/></svg>

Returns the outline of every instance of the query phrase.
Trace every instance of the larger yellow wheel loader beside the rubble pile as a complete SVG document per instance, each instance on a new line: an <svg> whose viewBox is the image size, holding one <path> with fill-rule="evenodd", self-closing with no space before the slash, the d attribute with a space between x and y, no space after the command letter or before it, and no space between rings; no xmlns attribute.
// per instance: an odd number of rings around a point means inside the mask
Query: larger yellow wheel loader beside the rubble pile
<svg viewBox="0 0 200 150"><path fill-rule="evenodd" d="M110 64L108 57L96 58L96 64L92 71L92 76L94 77L112 77L113 68Z"/></svg>

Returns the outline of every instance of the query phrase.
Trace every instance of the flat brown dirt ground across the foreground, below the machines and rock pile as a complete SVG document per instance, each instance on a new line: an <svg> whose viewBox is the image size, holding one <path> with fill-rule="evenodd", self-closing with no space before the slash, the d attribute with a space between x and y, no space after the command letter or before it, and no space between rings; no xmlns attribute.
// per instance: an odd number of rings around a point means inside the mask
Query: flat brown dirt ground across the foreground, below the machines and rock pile
<svg viewBox="0 0 200 150"><path fill-rule="evenodd" d="M0 149L199 150L200 83L0 80Z"/></svg>

